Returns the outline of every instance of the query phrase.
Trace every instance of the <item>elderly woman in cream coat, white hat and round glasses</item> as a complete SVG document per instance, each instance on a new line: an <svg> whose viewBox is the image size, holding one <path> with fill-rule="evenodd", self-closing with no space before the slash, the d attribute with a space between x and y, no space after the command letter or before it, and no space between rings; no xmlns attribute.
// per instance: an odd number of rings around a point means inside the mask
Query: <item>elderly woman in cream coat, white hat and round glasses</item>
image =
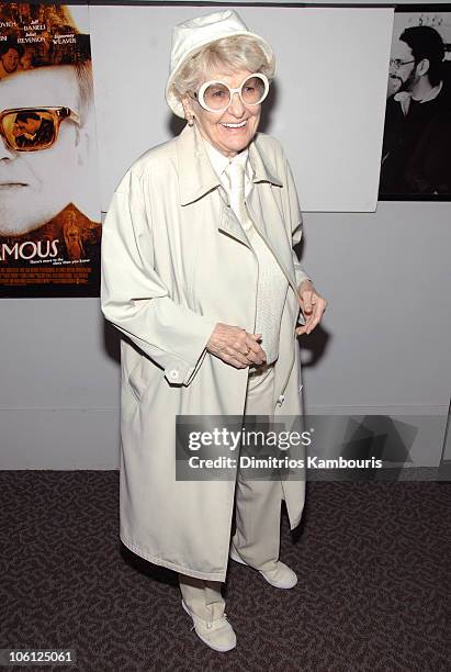
<svg viewBox="0 0 451 672"><path fill-rule="evenodd" d="M273 72L270 45L233 11L176 26L166 99L188 123L133 164L103 227L102 310L125 336L121 539L179 573L182 606L217 651L236 646L221 593L229 557L295 585L279 560L280 512L285 500L298 525L305 482L239 464L234 478L177 478L176 418L300 416L296 335L326 306L293 251L287 160L257 135Z"/></svg>

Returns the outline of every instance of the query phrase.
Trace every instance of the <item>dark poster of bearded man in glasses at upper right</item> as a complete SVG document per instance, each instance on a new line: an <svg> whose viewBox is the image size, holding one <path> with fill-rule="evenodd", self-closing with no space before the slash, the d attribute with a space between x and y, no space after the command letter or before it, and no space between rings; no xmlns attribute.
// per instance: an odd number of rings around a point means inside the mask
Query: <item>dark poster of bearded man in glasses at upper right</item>
<svg viewBox="0 0 451 672"><path fill-rule="evenodd" d="M451 200L451 4L396 8L379 200Z"/></svg>

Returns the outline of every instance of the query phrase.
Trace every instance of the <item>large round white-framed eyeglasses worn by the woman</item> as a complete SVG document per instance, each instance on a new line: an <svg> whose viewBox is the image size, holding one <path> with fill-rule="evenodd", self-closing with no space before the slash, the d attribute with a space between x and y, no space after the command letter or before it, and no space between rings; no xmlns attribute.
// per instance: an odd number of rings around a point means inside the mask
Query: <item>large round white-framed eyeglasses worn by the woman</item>
<svg viewBox="0 0 451 672"><path fill-rule="evenodd" d="M266 75L253 72L246 77L237 89L232 89L224 81L205 81L191 98L195 98L199 104L208 112L224 112L232 103L234 93L238 93L245 105L259 105L269 91L269 81Z"/></svg>

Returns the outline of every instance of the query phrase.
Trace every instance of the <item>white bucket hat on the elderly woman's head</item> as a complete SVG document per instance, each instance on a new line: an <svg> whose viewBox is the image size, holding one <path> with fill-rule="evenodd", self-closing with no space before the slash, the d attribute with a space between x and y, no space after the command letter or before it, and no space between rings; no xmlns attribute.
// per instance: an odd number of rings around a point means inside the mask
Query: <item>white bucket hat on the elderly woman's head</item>
<svg viewBox="0 0 451 672"><path fill-rule="evenodd" d="M270 44L260 37L260 35L251 33L233 10L196 16L173 27L170 75L165 94L166 102L177 116L184 119L184 111L182 103L172 89L172 85L188 58L217 40L235 35L253 37L262 48L268 63L274 69L275 59Z"/></svg>

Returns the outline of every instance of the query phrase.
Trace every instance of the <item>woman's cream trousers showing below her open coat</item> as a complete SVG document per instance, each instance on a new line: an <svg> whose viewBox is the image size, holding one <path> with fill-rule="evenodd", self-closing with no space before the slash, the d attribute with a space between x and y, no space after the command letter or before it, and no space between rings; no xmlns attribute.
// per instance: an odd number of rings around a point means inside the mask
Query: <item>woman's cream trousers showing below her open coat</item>
<svg viewBox="0 0 451 672"><path fill-rule="evenodd" d="M267 415L273 418L272 400L274 365L249 370L245 415ZM236 531L233 544L241 558L255 569L275 569L280 549L280 512L282 484L250 480L246 470L238 469L235 489ZM224 614L225 602L221 581L204 581L179 574L182 597L189 609L204 620L215 620Z"/></svg>

